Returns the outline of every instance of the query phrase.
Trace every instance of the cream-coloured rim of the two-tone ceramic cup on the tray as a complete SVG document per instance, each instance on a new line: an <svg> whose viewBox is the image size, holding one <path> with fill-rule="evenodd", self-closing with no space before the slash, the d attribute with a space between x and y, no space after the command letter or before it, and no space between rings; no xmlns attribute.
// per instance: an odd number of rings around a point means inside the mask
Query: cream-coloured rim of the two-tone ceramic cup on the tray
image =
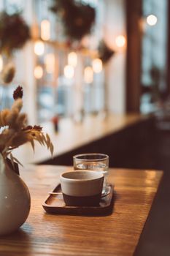
<svg viewBox="0 0 170 256"><path fill-rule="evenodd" d="M97 174L96 177L94 178L67 178L67 177L64 177L66 174L73 174L73 173L90 173L90 174ZM104 178L104 174L101 173L101 172L98 172L98 171L95 171L95 170L71 170L71 171L67 171L67 172L64 172L64 173L61 173L61 176L60 178L64 181L72 181L72 182L85 182L85 181L94 181L94 180L98 180L98 179L101 179L101 178Z"/></svg>

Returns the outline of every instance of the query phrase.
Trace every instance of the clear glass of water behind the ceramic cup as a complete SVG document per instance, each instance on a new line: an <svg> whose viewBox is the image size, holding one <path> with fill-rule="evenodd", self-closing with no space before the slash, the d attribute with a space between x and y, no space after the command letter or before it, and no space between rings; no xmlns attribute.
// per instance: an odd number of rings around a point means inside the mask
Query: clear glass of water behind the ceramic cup
<svg viewBox="0 0 170 256"><path fill-rule="evenodd" d="M77 154L73 157L74 170L96 170L104 174L102 194L108 192L107 176L109 171L109 156L100 153Z"/></svg>

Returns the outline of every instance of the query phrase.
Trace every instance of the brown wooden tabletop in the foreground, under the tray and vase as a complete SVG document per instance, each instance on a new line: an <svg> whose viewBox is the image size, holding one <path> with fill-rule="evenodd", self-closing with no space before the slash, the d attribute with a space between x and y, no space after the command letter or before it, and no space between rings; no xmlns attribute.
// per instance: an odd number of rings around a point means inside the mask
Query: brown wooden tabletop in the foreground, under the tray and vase
<svg viewBox="0 0 170 256"><path fill-rule="evenodd" d="M34 165L20 171L31 192L31 211L17 233L0 238L0 255L133 255L163 173L110 169L117 200L107 217L46 214L42 202L65 170Z"/></svg>

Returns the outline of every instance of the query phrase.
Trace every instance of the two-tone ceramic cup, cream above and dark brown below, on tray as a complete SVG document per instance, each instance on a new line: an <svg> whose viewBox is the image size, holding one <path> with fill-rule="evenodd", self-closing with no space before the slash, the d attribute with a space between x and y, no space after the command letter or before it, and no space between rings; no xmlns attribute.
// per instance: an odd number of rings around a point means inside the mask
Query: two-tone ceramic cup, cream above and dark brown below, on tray
<svg viewBox="0 0 170 256"><path fill-rule="evenodd" d="M61 174L61 189L66 206L98 206L104 183L104 174L89 170Z"/></svg>

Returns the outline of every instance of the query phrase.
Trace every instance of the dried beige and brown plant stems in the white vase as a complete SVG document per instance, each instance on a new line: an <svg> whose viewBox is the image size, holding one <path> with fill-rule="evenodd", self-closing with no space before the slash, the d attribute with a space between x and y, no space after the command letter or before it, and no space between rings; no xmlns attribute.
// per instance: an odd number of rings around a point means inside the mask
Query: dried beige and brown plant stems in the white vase
<svg viewBox="0 0 170 256"><path fill-rule="evenodd" d="M34 141L38 141L42 146L47 146L53 156L53 143L49 135L42 131L42 127L27 124L26 113L20 113L23 107L23 88L18 86L13 93L14 103L11 109L0 111L0 153L4 161L15 169L15 163L19 160L13 157L12 150L30 142L34 150Z"/></svg>

